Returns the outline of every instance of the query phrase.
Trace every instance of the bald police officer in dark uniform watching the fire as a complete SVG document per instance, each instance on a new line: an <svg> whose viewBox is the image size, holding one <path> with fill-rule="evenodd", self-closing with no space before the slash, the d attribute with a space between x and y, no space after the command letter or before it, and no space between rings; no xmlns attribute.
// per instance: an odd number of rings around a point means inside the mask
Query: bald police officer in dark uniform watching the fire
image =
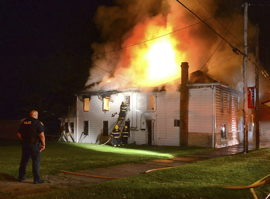
<svg viewBox="0 0 270 199"><path fill-rule="evenodd" d="M41 151L45 149L45 127L38 120L38 112L31 111L30 117L25 119L18 130L18 137L22 140L22 158L19 167L19 182L25 180L27 163L31 157L34 184L45 183L39 176Z"/></svg>

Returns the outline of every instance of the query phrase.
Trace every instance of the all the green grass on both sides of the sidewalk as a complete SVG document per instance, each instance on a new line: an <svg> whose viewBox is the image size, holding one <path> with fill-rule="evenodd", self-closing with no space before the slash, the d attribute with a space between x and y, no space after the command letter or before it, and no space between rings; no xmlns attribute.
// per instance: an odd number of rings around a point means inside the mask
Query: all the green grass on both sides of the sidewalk
<svg viewBox="0 0 270 199"><path fill-rule="evenodd" d="M142 162L153 159L186 156L211 150L206 148L110 146L91 147L94 144L48 143L42 154L42 175L59 173L58 169L78 171L117 164ZM17 176L20 146L0 148L2 179ZM116 158L116 160L114 160ZM4 160L4 161L2 161ZM9 164L8 162L11 163ZM50 163L47 163L49 161ZM3 164L2 164L3 162ZM80 164L77 164L80 163ZM16 165L15 170L10 167ZM51 168L47 168L51 167ZM60 168L61 167L61 168ZM31 168L28 170L31 177ZM153 171L91 186L55 190L49 194L29 195L21 198L255 198L250 189L227 189L224 185L251 185L270 173L270 149L248 154L224 156L198 161L182 167ZM256 197L265 198L270 186L254 188Z"/></svg>

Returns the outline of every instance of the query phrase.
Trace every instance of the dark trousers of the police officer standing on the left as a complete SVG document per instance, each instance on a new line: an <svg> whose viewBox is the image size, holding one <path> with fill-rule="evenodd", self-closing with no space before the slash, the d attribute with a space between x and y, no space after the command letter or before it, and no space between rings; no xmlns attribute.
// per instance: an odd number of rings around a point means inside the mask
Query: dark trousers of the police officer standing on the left
<svg viewBox="0 0 270 199"><path fill-rule="evenodd" d="M40 147L37 144L22 144L22 159L19 168L19 180L24 180L26 166L31 157L32 159L32 172L34 182L40 181L39 177L39 163L41 159Z"/></svg>

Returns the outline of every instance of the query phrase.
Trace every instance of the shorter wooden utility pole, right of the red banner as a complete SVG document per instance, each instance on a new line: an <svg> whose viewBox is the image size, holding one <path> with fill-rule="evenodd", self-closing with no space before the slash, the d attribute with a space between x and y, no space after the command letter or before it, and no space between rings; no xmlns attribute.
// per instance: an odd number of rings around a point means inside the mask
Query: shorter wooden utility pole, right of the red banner
<svg viewBox="0 0 270 199"><path fill-rule="evenodd" d="M255 143L256 150L260 149L260 123L259 123L259 24L256 24L256 66L255 66Z"/></svg>

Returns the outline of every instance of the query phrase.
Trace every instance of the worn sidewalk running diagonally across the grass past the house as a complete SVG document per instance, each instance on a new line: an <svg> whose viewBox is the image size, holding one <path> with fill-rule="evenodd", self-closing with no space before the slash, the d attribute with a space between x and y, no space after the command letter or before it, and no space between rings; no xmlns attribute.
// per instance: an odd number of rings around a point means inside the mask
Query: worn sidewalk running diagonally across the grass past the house
<svg viewBox="0 0 270 199"><path fill-rule="evenodd" d="M261 144L261 148L270 148L270 143ZM254 149L253 143L248 145L248 149ZM151 169L182 166L194 161L202 161L210 158L233 155L241 152L243 152L243 144L238 144L234 146L227 146L210 152L192 154L190 156L174 157L164 160L154 160L144 163L118 165L110 168L93 169L89 171L81 171L78 173L102 177L128 178L135 175L140 175L145 171ZM23 181L23 183L19 183L17 181L0 182L0 198L5 199L30 193L52 192L57 189L66 189L75 186L92 185L93 183L110 181L110 179L70 175L66 173L61 173L57 176L43 176L43 179L48 183L34 185L33 179L27 179Z"/></svg>

